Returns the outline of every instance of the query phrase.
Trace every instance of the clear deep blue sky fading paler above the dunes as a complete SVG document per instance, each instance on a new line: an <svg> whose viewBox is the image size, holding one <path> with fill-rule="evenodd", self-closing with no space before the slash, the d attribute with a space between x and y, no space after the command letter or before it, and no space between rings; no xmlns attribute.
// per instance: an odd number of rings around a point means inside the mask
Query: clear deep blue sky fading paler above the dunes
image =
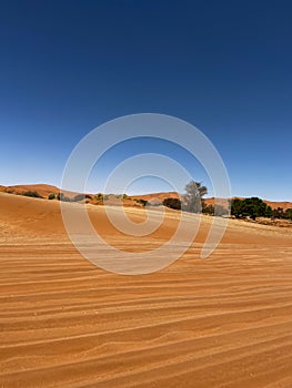
<svg viewBox="0 0 292 388"><path fill-rule="evenodd" d="M89 131L155 112L205 133L233 195L292 201L291 14L281 0L1 1L0 184L59 185ZM153 149L165 150L134 150ZM113 150L103 175L131 150Z"/></svg>

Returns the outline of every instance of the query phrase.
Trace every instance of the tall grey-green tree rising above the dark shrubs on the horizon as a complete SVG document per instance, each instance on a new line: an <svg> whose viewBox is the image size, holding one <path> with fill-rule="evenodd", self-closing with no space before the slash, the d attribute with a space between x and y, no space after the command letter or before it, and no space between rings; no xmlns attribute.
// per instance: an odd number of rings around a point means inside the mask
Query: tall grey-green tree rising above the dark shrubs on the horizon
<svg viewBox="0 0 292 388"><path fill-rule="evenodd" d="M182 210L191 213L200 213L202 211L202 197L208 194L205 186L201 182L191 181L184 187Z"/></svg>

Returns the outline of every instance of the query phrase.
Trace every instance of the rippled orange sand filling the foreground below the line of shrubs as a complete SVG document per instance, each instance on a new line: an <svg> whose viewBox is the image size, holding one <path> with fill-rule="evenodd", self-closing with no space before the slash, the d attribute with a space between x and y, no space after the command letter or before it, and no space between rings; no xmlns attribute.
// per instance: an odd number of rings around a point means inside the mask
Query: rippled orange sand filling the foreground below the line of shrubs
<svg viewBox="0 0 292 388"><path fill-rule="evenodd" d="M88 207L131 252L178 225L168 212L149 237L129 237ZM0 193L0 387L292 387L291 229L231 221L202 261L205 216L174 264L122 276L77 252L58 202Z"/></svg>

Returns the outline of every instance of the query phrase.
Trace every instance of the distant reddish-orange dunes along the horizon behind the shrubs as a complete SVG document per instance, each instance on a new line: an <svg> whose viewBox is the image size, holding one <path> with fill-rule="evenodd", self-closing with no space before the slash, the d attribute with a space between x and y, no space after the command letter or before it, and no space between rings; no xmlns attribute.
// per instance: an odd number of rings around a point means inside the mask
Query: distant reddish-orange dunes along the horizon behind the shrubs
<svg viewBox="0 0 292 388"><path fill-rule="evenodd" d="M41 196L43 196L44 198L48 197L48 195L50 195L51 193L58 194L60 193L60 188L53 185L48 185L48 184L23 184L23 185L12 185L12 186L3 186L0 185L0 192L11 192L13 194L22 194L24 192L28 191L36 191L38 192ZM66 193L70 193L70 192L66 192ZM73 194L78 194L78 193L72 193ZM121 193L119 193L121 194ZM92 193L88 193L88 195L95 195ZM163 200L165 198L180 198L182 194L179 194L177 192L161 192L161 193L150 193L150 194L139 194L139 195L129 195L129 198L137 198L137 200L145 200L145 201L161 201L163 202ZM238 197L236 197L238 198ZM241 200L243 197L240 197ZM207 205L213 205L214 204L214 197L210 197L210 198L204 198L204 202ZM273 210L278 208L278 207L282 207L284 211L286 208L291 208L292 207L292 202L288 202L288 201L282 201L282 202L273 202L273 201L269 201L269 200L263 200L264 203L266 203L266 205L271 206ZM128 201L127 205L130 205L130 202Z"/></svg>

